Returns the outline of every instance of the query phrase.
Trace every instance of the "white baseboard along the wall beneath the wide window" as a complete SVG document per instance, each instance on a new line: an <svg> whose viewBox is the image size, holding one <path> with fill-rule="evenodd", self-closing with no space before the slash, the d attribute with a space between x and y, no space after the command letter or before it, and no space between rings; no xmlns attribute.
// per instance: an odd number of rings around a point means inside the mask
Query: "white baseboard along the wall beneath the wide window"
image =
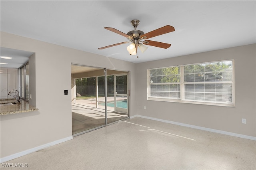
<svg viewBox="0 0 256 170"><path fill-rule="evenodd" d="M195 125L188 125L188 124L185 124L185 123L178 123L178 122L173 122L173 121L167 121L167 120L164 120L164 119L157 119L157 118L154 118L154 117L147 117L147 116L142 116L142 115L134 115L134 116L130 117L130 119L135 118L135 117L141 117L141 118L145 118L145 119L151 119L153 121L160 121L160 122L164 122L164 123L180 125L180 126L183 126L183 127L190 127L190 128L200 129L200 130L206 130L206 131L209 131L209 132L226 134L226 135L229 135L229 136L235 136L235 137L239 137L239 138L256 140L256 137L254 137L254 136L247 136L247 135L244 135L244 134L232 133L232 132L227 132L227 131L223 131L223 130L216 130L216 129L206 128L206 127L198 127L198 126L195 126Z"/></svg>

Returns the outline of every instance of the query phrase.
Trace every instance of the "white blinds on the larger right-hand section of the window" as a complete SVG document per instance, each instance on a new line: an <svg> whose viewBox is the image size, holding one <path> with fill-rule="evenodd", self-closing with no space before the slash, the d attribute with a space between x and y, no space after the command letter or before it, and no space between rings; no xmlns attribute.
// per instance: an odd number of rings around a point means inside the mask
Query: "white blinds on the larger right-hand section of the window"
<svg viewBox="0 0 256 170"><path fill-rule="evenodd" d="M184 66L184 100L232 103L232 61Z"/></svg>

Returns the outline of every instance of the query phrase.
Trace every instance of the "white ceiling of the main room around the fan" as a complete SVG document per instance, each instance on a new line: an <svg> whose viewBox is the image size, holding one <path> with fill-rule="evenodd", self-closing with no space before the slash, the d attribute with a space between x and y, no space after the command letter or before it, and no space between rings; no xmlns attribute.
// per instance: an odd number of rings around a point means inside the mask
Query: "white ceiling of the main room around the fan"
<svg viewBox="0 0 256 170"><path fill-rule="evenodd" d="M256 43L256 1L0 1L1 31L134 63ZM127 33L140 20L144 33L171 25L149 40L170 43L129 55ZM138 58L137 58L138 56Z"/></svg>

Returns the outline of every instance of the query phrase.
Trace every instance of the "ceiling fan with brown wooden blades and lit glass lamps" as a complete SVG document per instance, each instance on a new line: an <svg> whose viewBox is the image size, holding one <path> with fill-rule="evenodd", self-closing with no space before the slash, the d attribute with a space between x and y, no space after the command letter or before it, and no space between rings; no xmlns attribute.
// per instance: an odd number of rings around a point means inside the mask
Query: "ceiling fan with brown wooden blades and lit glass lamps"
<svg viewBox="0 0 256 170"><path fill-rule="evenodd" d="M125 34L123 32L120 32L119 30L116 30L115 28L104 27L106 30L109 30L109 31L112 31L116 34L124 36L130 42L132 42L127 47L127 50L129 51L130 55L136 55L138 47L140 48L140 50L143 53L148 48L145 45L151 45L151 46L165 48L165 49L169 48L171 46L171 44L169 44L169 43L155 42L155 41L146 40L146 39L156 37L156 36L160 36L162 34L166 34L166 33L169 33L169 32L173 32L173 31L175 31L174 27L167 25L167 26L158 28L156 30L153 30L151 32L148 32L148 33L144 34L143 31L136 30L138 25L140 24L139 20L132 20L131 24L134 27L134 30L128 32L127 34ZM142 40L144 40L144 41L142 41ZM105 49L105 48L108 48L108 47L113 47L113 46L121 45L121 44L124 44L124 43L129 43L129 42L116 43L116 44L108 45L108 46L105 46L105 47L100 47L98 49ZM145 44L145 45L143 45L143 44Z"/></svg>

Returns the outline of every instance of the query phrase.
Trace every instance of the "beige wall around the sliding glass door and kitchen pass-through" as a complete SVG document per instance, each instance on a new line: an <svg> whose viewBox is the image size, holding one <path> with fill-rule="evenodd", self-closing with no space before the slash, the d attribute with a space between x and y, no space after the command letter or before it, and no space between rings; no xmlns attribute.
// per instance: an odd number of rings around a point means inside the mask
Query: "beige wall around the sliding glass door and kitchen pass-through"
<svg viewBox="0 0 256 170"><path fill-rule="evenodd" d="M1 32L1 47L35 52L30 71L39 111L2 115L1 158L72 136L71 63L130 71L130 113L136 113L136 64ZM64 95L64 90L68 95Z"/></svg>

